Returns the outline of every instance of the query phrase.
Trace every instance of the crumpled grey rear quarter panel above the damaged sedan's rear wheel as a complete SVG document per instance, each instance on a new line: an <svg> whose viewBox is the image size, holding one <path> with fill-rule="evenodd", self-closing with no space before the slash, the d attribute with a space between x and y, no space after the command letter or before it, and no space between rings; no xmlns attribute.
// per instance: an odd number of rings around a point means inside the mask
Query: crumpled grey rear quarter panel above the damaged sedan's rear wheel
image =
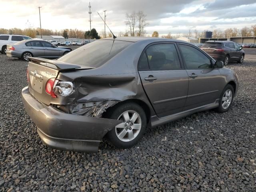
<svg viewBox="0 0 256 192"><path fill-rule="evenodd" d="M57 78L72 81L75 92L68 97L53 98L52 103L74 104L104 100L122 102L138 99L144 101L149 106L151 115L154 115L137 70L140 54L146 45L145 42L136 42L98 68L60 72ZM138 48L141 51L138 51Z"/></svg>

